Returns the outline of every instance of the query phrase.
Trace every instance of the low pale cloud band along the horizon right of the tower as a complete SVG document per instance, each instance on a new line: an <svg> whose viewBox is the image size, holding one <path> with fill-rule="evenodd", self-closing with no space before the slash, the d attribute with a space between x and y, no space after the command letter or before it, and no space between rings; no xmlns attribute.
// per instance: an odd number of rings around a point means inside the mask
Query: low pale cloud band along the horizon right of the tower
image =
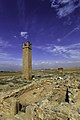
<svg viewBox="0 0 80 120"><path fill-rule="evenodd" d="M80 67L80 61L36 61L33 63L33 69L48 69L48 68L75 68Z"/></svg>

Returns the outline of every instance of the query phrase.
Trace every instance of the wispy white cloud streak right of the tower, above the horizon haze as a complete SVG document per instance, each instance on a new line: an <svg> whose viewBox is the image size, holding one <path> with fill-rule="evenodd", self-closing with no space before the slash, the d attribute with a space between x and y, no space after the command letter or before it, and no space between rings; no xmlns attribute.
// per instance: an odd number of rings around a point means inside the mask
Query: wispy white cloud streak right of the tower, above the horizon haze
<svg viewBox="0 0 80 120"><path fill-rule="evenodd" d="M50 44L48 46L37 46L36 48L53 55L64 57L65 60L80 61L80 43L67 46Z"/></svg>

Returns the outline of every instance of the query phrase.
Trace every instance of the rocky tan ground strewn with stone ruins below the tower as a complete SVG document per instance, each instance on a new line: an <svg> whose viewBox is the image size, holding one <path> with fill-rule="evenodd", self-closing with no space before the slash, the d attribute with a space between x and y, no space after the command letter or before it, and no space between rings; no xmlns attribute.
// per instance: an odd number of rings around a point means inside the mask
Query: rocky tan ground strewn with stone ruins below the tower
<svg viewBox="0 0 80 120"><path fill-rule="evenodd" d="M80 120L80 73L1 77L0 120Z"/></svg>

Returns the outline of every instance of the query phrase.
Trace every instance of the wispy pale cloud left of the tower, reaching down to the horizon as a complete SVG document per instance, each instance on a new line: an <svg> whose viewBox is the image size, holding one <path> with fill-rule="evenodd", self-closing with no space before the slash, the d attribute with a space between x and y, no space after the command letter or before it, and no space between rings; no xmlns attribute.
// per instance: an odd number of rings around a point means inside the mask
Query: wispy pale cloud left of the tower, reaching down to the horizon
<svg viewBox="0 0 80 120"><path fill-rule="evenodd" d="M9 47L14 46L0 37L0 70L19 70L21 59L14 57L12 53L7 51Z"/></svg>

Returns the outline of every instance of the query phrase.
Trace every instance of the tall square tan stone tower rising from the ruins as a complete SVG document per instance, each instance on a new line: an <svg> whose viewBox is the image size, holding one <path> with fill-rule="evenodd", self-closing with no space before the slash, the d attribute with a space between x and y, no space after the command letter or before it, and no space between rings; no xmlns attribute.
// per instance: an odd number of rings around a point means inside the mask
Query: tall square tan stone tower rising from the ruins
<svg viewBox="0 0 80 120"><path fill-rule="evenodd" d="M29 41L27 41L26 43L23 43L22 49L23 49L22 77L26 80L31 80L32 79L32 44Z"/></svg>

